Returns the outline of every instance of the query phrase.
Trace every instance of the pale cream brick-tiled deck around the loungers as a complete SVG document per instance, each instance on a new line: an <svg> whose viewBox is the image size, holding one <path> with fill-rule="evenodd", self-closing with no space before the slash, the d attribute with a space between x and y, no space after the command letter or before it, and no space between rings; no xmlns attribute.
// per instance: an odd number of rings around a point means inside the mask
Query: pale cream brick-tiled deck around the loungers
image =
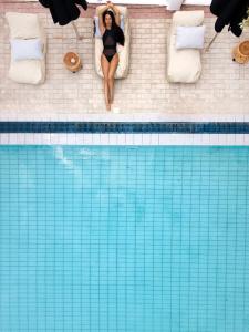
<svg viewBox="0 0 249 332"><path fill-rule="evenodd" d="M226 29L208 53L203 54L203 75L196 84L166 81L166 35L168 18L132 18L131 69L128 77L116 81L112 114L106 114L102 80L94 71L91 18L77 21L84 34L76 42L72 28L58 27L40 13L48 32L46 81L40 86L21 85L8 79L10 50L8 27L0 14L0 121L7 120L87 120L114 116L134 120L153 114L158 120L234 118L249 116L249 64L231 61L231 49L239 41ZM214 18L207 17L206 40L214 34ZM242 40L249 38L243 33ZM68 72L63 54L73 50L83 60L83 70ZM95 115L94 115L95 114ZM125 114L127 116L125 116ZM156 115L155 115L156 114Z"/></svg>

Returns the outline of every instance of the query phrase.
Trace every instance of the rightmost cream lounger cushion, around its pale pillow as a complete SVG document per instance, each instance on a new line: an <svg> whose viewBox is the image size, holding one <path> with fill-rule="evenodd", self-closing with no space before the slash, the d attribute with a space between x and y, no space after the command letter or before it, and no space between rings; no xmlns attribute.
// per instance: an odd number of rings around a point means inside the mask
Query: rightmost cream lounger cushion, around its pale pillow
<svg viewBox="0 0 249 332"><path fill-rule="evenodd" d="M201 73L200 52L195 49L176 50L176 28L198 27L204 11L180 11L173 15L168 33L167 80L174 83L195 83Z"/></svg>

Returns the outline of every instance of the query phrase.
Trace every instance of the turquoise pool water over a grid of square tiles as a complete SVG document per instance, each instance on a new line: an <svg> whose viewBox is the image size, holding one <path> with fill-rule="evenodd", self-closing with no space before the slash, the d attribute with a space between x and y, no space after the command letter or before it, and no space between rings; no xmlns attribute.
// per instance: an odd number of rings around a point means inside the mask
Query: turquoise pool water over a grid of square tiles
<svg viewBox="0 0 249 332"><path fill-rule="evenodd" d="M0 147L1 332L248 332L249 147Z"/></svg>

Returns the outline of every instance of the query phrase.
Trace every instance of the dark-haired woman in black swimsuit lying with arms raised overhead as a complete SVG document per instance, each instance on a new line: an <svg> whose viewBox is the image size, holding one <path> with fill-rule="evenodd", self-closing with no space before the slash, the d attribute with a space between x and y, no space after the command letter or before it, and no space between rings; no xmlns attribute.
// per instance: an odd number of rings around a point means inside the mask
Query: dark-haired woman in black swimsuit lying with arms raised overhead
<svg viewBox="0 0 249 332"><path fill-rule="evenodd" d="M106 110L111 110L114 97L114 74L118 65L116 44L124 45L124 33L120 28L120 10L108 1L98 14L100 31L103 40L101 66L104 75L104 96Z"/></svg>

